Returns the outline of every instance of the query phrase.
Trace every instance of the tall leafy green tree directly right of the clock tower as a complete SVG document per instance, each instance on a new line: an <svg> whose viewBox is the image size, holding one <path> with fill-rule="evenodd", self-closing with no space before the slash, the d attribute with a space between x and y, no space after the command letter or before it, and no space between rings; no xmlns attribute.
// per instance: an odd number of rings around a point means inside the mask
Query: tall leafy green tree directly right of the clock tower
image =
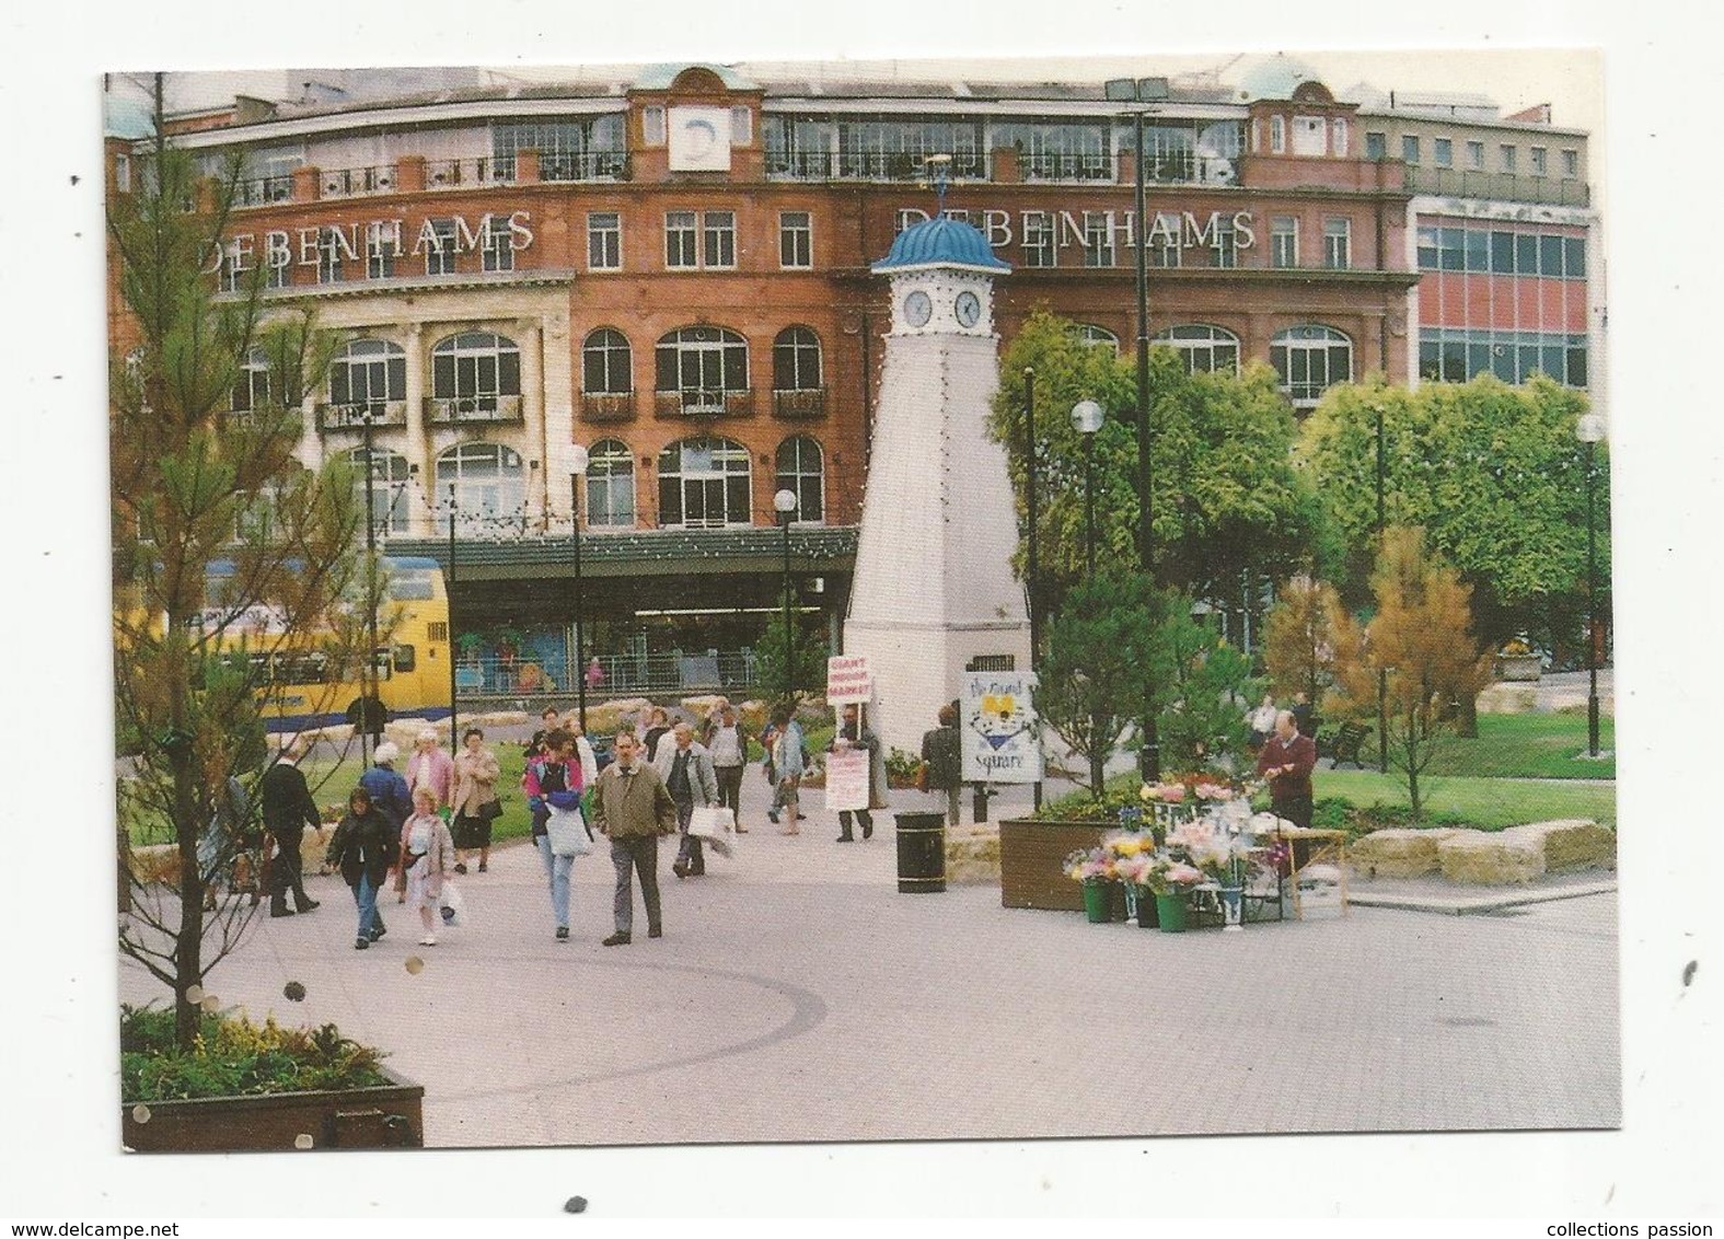
<svg viewBox="0 0 1724 1239"><path fill-rule="evenodd" d="M1096 433L1096 558L1140 562L1136 370L1090 345L1076 324L1036 312L1000 367L991 431L1007 448L1024 510L1024 369L1034 370L1040 576L1045 610L1084 574L1083 436L1071 408L1109 410ZM1296 427L1274 372L1188 374L1167 348L1152 350L1150 420L1155 579L1224 610L1255 610L1265 581L1309 569L1327 541L1321 505L1290 457ZM1022 570L1022 548L1019 550Z"/></svg>

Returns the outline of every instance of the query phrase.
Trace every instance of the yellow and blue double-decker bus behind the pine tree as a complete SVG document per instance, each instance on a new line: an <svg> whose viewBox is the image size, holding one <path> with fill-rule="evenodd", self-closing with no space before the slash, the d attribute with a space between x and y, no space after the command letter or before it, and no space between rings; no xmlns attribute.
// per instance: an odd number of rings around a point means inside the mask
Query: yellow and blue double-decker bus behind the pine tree
<svg viewBox="0 0 1724 1239"><path fill-rule="evenodd" d="M224 565L210 565L212 595ZM441 719L450 712L448 591L434 558L381 560L378 629L384 639L371 674L340 665L319 634L286 631L267 607L228 617L224 644L250 662L259 713L269 731L300 731L364 720ZM231 569L229 569L231 570ZM371 703L367 708L367 701Z"/></svg>

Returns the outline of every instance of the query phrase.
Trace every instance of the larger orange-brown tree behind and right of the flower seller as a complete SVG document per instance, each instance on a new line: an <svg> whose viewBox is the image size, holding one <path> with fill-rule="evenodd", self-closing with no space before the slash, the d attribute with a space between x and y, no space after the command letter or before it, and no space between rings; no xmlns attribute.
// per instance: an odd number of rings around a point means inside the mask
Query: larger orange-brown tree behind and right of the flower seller
<svg viewBox="0 0 1724 1239"><path fill-rule="evenodd" d="M1417 822L1424 813L1419 775L1455 729L1460 703L1490 682L1490 658L1472 638L1471 588L1426 553L1421 529L1384 531L1371 591L1376 617L1338 663L1340 707L1350 717L1374 715L1383 674L1390 765L1407 779Z"/></svg>

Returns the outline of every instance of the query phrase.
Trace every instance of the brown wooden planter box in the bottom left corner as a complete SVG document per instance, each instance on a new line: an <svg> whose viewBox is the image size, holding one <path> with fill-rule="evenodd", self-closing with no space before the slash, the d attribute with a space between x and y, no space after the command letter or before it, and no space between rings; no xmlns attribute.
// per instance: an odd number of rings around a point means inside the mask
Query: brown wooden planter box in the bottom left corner
<svg viewBox="0 0 1724 1239"><path fill-rule="evenodd" d="M424 1146L424 1086L384 1068L390 1084L340 1093L121 1105L121 1137L136 1153L271 1153ZM140 1122L143 1120L143 1122ZM302 1137L310 1137L307 1144Z"/></svg>

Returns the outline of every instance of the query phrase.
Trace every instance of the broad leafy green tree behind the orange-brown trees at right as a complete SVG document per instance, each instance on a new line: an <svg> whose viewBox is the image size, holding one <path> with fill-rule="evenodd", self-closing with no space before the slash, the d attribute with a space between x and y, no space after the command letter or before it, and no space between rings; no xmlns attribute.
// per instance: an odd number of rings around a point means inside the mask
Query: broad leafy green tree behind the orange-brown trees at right
<svg viewBox="0 0 1724 1239"><path fill-rule="evenodd" d="M1300 457L1352 548L1343 595L1355 603L1376 546L1379 412L1386 524L1424 527L1472 586L1493 646L1527 632L1572 648L1586 586L1586 457L1574 433L1586 396L1543 376L1517 388L1488 374L1417 391L1381 376L1331 388L1305 422ZM1607 539L1600 548L1607 562Z"/></svg>

